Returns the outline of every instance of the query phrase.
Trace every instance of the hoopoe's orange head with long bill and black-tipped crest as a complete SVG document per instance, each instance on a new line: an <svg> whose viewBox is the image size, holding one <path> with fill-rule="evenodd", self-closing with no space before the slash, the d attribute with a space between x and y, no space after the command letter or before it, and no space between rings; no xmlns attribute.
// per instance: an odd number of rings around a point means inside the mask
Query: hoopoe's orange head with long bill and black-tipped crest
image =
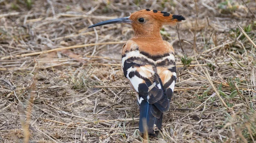
<svg viewBox="0 0 256 143"><path fill-rule="evenodd" d="M181 20L185 20L181 15L173 15L165 11L143 9L132 13L130 17L99 22L88 28L113 23L127 23L132 26L135 36L154 37L160 35L160 28L163 25L175 25L175 23L180 22Z"/></svg>

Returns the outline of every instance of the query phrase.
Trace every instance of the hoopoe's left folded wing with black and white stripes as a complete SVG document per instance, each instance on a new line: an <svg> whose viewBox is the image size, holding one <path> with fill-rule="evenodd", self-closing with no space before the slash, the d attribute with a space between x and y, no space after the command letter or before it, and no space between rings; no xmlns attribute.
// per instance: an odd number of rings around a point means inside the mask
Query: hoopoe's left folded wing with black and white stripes
<svg viewBox="0 0 256 143"><path fill-rule="evenodd" d="M156 109L152 114L156 117L169 110L169 101L154 60L141 54L138 49L129 50L122 55L122 67L124 76L139 95L139 104L143 100L154 104Z"/></svg>

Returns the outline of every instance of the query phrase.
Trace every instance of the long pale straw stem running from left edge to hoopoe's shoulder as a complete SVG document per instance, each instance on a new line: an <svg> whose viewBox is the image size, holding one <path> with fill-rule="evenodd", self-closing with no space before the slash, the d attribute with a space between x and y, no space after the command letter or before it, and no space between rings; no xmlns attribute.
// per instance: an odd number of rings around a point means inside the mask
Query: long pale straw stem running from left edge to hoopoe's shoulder
<svg viewBox="0 0 256 143"><path fill-rule="evenodd" d="M123 43L125 43L125 41L75 45L75 46L61 47L61 48L56 48L56 49L46 50L46 51L41 51L41 52L35 52L35 53L25 53L25 54L21 54L21 55L16 55L15 57L34 56L34 55L39 55L41 53L50 53L50 52L54 52L54 51L74 49L74 48L83 48L83 47L95 46L95 45L109 45L109 44L123 44ZM6 56L6 57L2 57L1 59L9 59L11 57L12 56Z"/></svg>

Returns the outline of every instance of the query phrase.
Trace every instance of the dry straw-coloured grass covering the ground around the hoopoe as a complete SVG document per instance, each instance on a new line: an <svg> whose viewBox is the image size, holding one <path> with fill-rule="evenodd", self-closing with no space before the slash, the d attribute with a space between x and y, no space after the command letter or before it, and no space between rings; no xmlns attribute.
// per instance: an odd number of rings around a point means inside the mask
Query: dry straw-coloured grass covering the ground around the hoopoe
<svg viewBox="0 0 256 143"><path fill-rule="evenodd" d="M256 143L256 2L244 2L0 0L0 142ZM120 67L132 29L86 29L142 8L186 17L180 43L175 27L161 31L178 78L163 131L148 140Z"/></svg>

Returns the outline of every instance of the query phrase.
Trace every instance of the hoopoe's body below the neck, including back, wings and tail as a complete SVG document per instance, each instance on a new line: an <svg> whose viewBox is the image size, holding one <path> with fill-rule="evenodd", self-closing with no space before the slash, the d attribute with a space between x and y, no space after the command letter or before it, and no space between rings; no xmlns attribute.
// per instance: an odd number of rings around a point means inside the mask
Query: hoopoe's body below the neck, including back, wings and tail
<svg viewBox="0 0 256 143"><path fill-rule="evenodd" d="M169 110L176 81L172 45L162 39L132 38L123 46L122 67L140 104L140 132L154 134Z"/></svg>

